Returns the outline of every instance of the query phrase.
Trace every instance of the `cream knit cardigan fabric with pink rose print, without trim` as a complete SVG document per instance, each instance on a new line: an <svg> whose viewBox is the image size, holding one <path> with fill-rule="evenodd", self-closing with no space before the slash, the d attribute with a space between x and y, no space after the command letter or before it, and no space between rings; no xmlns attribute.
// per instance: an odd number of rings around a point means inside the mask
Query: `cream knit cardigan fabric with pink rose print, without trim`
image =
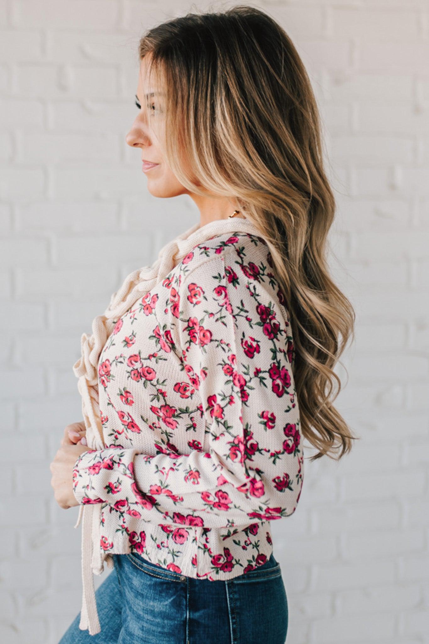
<svg viewBox="0 0 429 644"><path fill-rule="evenodd" d="M116 321L98 361L104 450L73 468L100 549L210 581L263 565L304 475L284 294L262 237L196 245Z"/></svg>

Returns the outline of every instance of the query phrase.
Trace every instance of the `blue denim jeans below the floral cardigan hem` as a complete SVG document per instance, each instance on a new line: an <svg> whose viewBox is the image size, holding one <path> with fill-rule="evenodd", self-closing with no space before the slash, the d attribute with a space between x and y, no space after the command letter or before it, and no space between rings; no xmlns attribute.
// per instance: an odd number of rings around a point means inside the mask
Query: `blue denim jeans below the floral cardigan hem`
<svg viewBox="0 0 429 644"><path fill-rule="evenodd" d="M59 644L284 644L288 600L273 554L257 569L210 582L161 569L140 554L114 554L96 589L101 632L79 629Z"/></svg>

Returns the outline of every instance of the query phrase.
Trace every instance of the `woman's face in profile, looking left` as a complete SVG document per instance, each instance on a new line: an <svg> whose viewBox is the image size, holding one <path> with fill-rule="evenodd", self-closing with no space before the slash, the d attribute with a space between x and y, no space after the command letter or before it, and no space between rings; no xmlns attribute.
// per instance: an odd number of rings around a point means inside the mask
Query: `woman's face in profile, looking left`
<svg viewBox="0 0 429 644"><path fill-rule="evenodd" d="M156 197L173 197L187 194L188 190L179 182L163 155L161 141L164 127L165 100L163 88L154 81L149 86L147 56L140 61L136 104L138 113L125 140L131 147L140 148L141 162L147 161L155 166L142 165L147 176L147 189Z"/></svg>

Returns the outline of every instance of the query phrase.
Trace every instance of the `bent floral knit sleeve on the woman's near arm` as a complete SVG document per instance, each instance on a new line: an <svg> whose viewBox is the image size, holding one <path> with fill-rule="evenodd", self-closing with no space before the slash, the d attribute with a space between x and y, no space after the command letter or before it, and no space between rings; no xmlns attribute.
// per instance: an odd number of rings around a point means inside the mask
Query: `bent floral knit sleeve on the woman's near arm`
<svg viewBox="0 0 429 644"><path fill-rule="evenodd" d="M86 451L73 469L80 504L105 502L158 525L201 527L247 526L295 511L303 456L288 312L272 274L262 277L235 258L219 254L181 274L170 313L185 381L175 386L186 386L183 406L204 425L210 447L190 431L187 454L174 451L174 439L157 445L156 455Z"/></svg>

